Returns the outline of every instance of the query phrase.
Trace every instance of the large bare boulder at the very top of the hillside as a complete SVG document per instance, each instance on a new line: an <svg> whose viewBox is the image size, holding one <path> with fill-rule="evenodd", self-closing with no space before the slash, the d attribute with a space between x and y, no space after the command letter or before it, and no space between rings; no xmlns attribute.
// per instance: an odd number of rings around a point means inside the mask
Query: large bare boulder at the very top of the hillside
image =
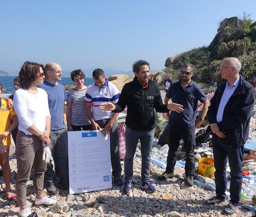
<svg viewBox="0 0 256 217"><path fill-rule="evenodd" d="M239 19L237 16L233 16L232 18L226 18L220 23L220 27L218 28L217 34L213 38L211 44L209 45L210 49L213 49L216 45L222 42L229 42L231 40L231 31L239 28Z"/></svg>

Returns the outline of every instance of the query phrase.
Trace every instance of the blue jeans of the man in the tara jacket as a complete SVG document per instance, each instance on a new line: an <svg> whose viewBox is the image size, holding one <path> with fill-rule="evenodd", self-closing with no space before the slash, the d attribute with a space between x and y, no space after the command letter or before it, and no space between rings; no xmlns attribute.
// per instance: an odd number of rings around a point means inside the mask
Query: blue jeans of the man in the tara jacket
<svg viewBox="0 0 256 217"><path fill-rule="evenodd" d="M133 157L138 144L138 139L141 140L141 179L142 183L149 180L150 163L151 163L151 149L153 146L153 139L155 128L151 130L133 130L126 126L125 139L126 139L126 152L124 157L124 173L125 181L132 180L133 176Z"/></svg>

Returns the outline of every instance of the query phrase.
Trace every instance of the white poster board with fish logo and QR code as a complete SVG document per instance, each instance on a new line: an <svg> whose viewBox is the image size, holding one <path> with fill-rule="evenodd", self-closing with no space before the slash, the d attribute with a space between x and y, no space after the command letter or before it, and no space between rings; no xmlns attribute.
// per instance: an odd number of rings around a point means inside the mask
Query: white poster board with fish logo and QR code
<svg viewBox="0 0 256 217"><path fill-rule="evenodd" d="M112 188L110 136L100 130L68 132L69 194Z"/></svg>

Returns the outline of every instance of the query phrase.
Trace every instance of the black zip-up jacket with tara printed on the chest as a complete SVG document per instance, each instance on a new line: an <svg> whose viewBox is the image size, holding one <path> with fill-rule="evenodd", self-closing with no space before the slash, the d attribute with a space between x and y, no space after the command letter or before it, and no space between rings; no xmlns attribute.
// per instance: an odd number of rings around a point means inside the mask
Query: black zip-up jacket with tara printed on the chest
<svg viewBox="0 0 256 217"><path fill-rule="evenodd" d="M157 112L170 111L163 104L158 86L149 80L145 88L136 76L124 85L115 106L113 112L122 112L127 106L125 124L133 130L150 130L156 126L154 108Z"/></svg>

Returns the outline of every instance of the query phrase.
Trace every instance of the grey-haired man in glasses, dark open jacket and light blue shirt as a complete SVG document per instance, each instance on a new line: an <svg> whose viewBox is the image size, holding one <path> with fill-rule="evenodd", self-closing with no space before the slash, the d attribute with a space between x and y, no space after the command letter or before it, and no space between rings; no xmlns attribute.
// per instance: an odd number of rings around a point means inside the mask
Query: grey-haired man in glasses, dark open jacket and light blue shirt
<svg viewBox="0 0 256 217"><path fill-rule="evenodd" d="M254 105L254 88L239 75L238 59L226 58L220 67L221 83L211 99L208 119L213 132L212 145L215 166L216 196L208 199L212 205L226 201L226 163L230 166L230 203L224 213L231 215L238 207L243 181L244 144L248 139L249 123Z"/></svg>

